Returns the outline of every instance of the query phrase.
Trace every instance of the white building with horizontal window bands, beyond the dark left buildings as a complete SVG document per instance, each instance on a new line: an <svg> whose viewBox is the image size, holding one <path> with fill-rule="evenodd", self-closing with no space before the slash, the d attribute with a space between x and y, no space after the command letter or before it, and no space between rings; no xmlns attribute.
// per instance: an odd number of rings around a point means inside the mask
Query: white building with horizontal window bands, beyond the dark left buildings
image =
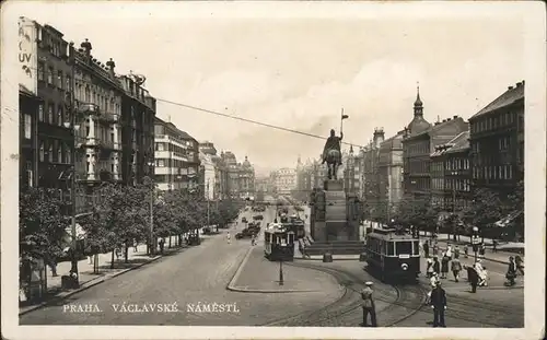
<svg viewBox="0 0 547 340"><path fill-rule="evenodd" d="M187 187L188 145L186 133L174 124L154 118L154 183L160 190Z"/></svg>

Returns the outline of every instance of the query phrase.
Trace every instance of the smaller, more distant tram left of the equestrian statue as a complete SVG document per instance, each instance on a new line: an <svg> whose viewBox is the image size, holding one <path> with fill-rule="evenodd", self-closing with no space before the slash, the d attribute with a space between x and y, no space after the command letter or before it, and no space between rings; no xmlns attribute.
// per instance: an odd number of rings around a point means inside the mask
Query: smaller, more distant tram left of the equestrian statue
<svg viewBox="0 0 547 340"><path fill-rule="evenodd" d="M294 232L282 223L270 223L264 231L264 254L270 261L292 261Z"/></svg>

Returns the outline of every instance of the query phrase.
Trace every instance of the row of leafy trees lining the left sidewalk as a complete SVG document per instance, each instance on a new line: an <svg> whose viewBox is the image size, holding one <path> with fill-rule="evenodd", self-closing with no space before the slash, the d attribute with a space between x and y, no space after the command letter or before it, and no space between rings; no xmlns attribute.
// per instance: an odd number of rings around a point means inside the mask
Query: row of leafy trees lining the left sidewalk
<svg viewBox="0 0 547 340"><path fill-rule="evenodd" d="M79 220L85 232L86 255L112 251L133 242L150 242L150 216L153 239L193 232L207 224L224 227L237 218L240 203L232 200L208 202L202 192L160 191L151 180L137 186L104 184L92 213ZM44 258L61 257L71 246L70 218L63 215L66 201L57 190L30 189L20 196L20 255ZM171 238L170 238L171 239ZM127 254L127 250L126 250Z"/></svg>

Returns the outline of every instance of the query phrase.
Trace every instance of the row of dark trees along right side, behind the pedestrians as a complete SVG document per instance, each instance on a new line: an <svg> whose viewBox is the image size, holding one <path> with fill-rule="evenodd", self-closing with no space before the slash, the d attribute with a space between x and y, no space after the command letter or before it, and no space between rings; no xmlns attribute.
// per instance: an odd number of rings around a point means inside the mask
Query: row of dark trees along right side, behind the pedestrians
<svg viewBox="0 0 547 340"><path fill-rule="evenodd" d="M450 209L449 209L450 210ZM363 202L363 219L387 224L391 220L423 232L445 232L455 235L469 235L473 226L478 226L488 237L515 238L523 235L522 219L515 219L505 227L496 222L524 210L524 183L520 181L509 195L487 188L474 191L470 204L463 211L451 214L444 211L445 219L439 216L443 211L431 204L429 199L403 199L397 208L388 207L385 201Z"/></svg>

